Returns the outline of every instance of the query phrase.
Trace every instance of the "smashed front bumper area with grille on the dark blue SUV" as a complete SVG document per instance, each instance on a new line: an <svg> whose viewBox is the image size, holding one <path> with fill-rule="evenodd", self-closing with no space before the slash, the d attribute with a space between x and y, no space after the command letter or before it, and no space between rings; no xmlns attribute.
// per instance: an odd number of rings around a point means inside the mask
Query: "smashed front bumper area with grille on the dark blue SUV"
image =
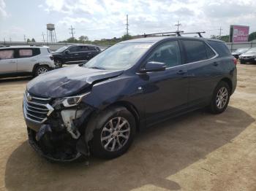
<svg viewBox="0 0 256 191"><path fill-rule="evenodd" d="M93 111L94 108L83 103L70 108L55 107L50 99L26 93L23 114L28 127L29 144L39 155L56 162L70 162L88 156L89 148L84 133Z"/></svg>

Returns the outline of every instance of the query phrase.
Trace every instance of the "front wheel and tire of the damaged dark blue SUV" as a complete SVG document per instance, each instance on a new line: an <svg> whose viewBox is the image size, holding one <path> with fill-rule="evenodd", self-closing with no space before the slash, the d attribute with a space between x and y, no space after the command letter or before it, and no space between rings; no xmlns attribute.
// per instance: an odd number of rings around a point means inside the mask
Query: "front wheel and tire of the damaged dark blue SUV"
<svg viewBox="0 0 256 191"><path fill-rule="evenodd" d="M111 159L123 155L135 136L135 118L124 107L107 109L100 117L91 140L91 153L96 157ZM97 117L98 118L98 117Z"/></svg>

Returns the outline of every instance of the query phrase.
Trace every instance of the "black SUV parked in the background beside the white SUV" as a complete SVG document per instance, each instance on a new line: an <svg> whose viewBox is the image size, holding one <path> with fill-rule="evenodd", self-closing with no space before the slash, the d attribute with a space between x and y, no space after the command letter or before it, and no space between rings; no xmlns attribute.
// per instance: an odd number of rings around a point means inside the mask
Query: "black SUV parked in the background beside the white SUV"
<svg viewBox="0 0 256 191"><path fill-rule="evenodd" d="M67 45L52 52L56 68L62 64L83 63L94 58L101 50L99 47L89 44Z"/></svg>

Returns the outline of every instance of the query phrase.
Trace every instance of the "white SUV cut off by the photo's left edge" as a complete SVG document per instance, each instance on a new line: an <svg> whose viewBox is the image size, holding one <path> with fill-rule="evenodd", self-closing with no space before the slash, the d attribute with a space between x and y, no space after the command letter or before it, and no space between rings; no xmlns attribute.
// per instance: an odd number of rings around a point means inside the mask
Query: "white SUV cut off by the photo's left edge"
<svg viewBox="0 0 256 191"><path fill-rule="evenodd" d="M54 68L49 47L0 46L0 77L36 77Z"/></svg>

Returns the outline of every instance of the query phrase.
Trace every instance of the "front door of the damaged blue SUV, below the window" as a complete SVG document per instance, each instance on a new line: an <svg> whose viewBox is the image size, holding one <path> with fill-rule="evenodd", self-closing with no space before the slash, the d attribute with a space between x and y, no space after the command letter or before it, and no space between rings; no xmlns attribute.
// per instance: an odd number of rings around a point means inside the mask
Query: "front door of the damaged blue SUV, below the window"
<svg viewBox="0 0 256 191"><path fill-rule="evenodd" d="M149 123L187 107L189 84L186 71L186 66L178 66L148 74L143 93L146 94L145 112Z"/></svg>

